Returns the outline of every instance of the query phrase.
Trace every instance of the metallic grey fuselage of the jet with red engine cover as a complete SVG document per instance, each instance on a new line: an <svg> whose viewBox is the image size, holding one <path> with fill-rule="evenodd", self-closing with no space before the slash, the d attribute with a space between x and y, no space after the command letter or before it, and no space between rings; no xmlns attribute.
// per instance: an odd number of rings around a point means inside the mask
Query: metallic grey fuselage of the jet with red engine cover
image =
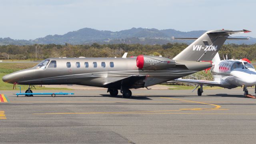
<svg viewBox="0 0 256 144"><path fill-rule="evenodd" d="M131 77L125 85L133 82L129 88L143 88L180 78L210 66L210 62L176 60L176 66L172 68L144 70L137 67L136 57L48 58L34 68L4 76L3 81L12 84L79 84L120 89L122 84L114 83Z"/></svg>

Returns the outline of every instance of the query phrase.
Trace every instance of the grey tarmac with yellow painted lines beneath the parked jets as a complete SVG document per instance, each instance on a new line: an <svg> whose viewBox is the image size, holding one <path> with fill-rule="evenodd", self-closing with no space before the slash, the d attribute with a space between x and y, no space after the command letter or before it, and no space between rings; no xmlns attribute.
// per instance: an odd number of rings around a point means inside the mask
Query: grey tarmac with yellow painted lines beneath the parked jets
<svg viewBox="0 0 256 144"><path fill-rule="evenodd" d="M65 90L75 95L56 97L16 92L0 92L9 99L0 103L0 143L256 142L256 99L244 98L242 89L204 90L202 96L191 90L132 90L132 98L110 97L106 90Z"/></svg>

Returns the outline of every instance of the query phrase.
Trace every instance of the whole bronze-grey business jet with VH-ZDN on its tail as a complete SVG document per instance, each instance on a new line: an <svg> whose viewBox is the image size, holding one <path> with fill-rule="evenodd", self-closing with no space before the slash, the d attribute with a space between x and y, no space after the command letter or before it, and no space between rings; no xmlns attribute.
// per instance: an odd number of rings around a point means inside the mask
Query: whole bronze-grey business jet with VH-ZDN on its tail
<svg viewBox="0 0 256 144"><path fill-rule="evenodd" d="M4 82L35 84L78 84L118 90L131 97L132 88L144 88L174 80L212 67L214 58L230 34L248 30L212 30L204 33L173 59L140 55L133 58L48 58L34 68L4 76Z"/></svg>

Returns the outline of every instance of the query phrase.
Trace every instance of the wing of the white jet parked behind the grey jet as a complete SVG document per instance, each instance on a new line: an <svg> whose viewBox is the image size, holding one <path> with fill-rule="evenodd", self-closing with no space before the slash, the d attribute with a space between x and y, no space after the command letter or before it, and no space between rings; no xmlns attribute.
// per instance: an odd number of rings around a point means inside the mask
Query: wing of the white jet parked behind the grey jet
<svg viewBox="0 0 256 144"><path fill-rule="evenodd" d="M178 78L174 80L174 82L183 82L183 83L189 83L189 84L204 84L206 86L220 86L220 82L208 81L208 80L190 80L190 79Z"/></svg>

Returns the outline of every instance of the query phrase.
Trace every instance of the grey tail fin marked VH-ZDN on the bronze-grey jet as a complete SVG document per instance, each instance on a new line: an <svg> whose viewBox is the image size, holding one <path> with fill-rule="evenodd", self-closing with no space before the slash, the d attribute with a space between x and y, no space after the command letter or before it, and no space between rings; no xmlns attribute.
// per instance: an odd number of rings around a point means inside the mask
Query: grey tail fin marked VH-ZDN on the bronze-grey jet
<svg viewBox="0 0 256 144"><path fill-rule="evenodd" d="M208 61L212 60L230 34L250 32L248 30L211 30L204 33L173 60Z"/></svg>

